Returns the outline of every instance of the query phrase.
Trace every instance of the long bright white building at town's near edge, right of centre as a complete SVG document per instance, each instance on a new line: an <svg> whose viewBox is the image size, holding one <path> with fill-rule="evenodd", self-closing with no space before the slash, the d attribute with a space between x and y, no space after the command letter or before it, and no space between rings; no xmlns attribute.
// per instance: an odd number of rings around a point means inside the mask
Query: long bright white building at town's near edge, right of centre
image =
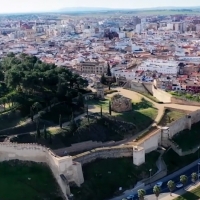
<svg viewBox="0 0 200 200"><path fill-rule="evenodd" d="M162 74L177 74L179 66L176 61L147 60L138 67L138 70L155 71Z"/></svg>

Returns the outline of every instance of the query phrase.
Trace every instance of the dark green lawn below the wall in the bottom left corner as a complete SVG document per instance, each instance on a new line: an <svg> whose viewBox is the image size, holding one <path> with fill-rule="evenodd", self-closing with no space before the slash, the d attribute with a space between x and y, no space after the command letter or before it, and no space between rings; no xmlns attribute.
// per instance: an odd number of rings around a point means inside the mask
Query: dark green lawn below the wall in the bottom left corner
<svg viewBox="0 0 200 200"><path fill-rule="evenodd" d="M3 200L62 199L50 169L34 162L0 163L0 188Z"/></svg>

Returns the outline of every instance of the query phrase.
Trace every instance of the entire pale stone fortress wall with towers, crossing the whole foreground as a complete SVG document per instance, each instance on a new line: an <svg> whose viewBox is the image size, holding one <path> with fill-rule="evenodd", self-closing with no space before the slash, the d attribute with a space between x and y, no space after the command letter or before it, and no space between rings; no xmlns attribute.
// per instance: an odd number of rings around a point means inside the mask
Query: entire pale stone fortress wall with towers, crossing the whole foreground
<svg viewBox="0 0 200 200"><path fill-rule="evenodd" d="M75 182L78 186L84 182L82 164L98 158L132 157L133 163L139 166L145 162L146 153L156 150L161 144L170 146L169 138L186 128L190 129L191 125L197 123L199 119L200 110L197 110L174 121L168 127L155 130L138 142L97 148L73 157L59 157L50 149L37 144L3 142L0 143L0 161L19 159L47 163L67 199L67 194L70 194L68 182ZM66 181L61 179L61 174L66 177Z"/></svg>

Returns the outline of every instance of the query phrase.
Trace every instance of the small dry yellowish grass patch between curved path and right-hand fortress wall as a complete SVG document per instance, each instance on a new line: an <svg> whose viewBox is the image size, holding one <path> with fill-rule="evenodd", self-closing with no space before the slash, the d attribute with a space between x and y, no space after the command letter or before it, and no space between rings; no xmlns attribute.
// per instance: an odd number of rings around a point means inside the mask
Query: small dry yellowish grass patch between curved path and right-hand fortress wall
<svg viewBox="0 0 200 200"><path fill-rule="evenodd" d="M177 110L170 110L166 109L163 118L161 119L159 125L160 126L167 126L168 124L180 119L181 117L185 116L187 113L184 111L177 111Z"/></svg>

